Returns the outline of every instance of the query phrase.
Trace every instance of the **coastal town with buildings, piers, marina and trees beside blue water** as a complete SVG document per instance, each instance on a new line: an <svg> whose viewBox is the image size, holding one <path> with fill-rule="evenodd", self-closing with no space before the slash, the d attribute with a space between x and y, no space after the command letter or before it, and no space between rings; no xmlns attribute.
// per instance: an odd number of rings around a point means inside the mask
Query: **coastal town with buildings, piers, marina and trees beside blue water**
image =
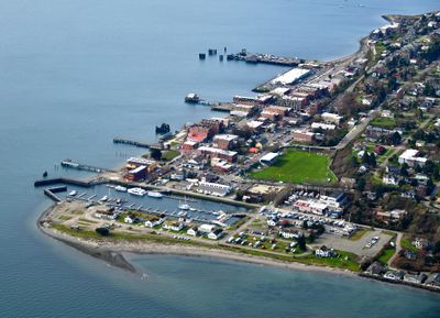
<svg viewBox="0 0 440 318"><path fill-rule="evenodd" d="M40 228L94 246L197 248L440 292L440 12L386 20L338 61L219 55L289 68L230 102L188 94L217 116L174 132L164 123L155 143L114 139L148 149L118 169L63 161L97 175L36 180L55 201Z"/></svg>

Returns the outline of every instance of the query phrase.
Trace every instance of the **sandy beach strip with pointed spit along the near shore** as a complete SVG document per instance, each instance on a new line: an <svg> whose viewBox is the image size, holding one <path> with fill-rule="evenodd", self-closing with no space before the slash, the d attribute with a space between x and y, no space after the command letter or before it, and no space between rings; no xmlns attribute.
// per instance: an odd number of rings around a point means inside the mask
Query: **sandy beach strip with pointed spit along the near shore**
<svg viewBox="0 0 440 318"><path fill-rule="evenodd" d="M66 233L59 232L52 228L46 228L43 226L42 221L44 217L56 208L56 204L47 208L36 220L36 226L38 230L56 240L59 241L86 255L95 257L97 260L103 261L110 266L123 270L134 275L147 275L136 268L132 262L130 255L175 255L183 257L201 257L201 259L213 259L240 262L244 264L272 266L277 268L284 268L289 271L302 271L308 273L322 273L322 274L336 274L343 275L345 277L352 278L363 278L375 283L386 283L391 285L398 285L405 287L416 288L418 290L426 290L431 293L440 293L440 289L432 288L425 285L411 284L403 281L389 281L380 276L374 276L364 272L352 272L350 270L341 270L330 266L310 265L299 262L286 262L280 260L274 260L265 256L255 256L250 254L241 254L239 252L231 252L221 249L209 249L202 246L194 245L183 245L183 244L161 244L161 243L145 243L140 241L105 241L96 239L84 239L68 235Z"/></svg>

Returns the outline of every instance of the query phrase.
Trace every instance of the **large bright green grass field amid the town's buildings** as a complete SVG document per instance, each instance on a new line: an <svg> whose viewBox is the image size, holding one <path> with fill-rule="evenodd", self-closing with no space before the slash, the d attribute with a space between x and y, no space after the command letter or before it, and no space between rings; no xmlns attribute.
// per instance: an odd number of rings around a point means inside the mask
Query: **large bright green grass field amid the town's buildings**
<svg viewBox="0 0 440 318"><path fill-rule="evenodd" d="M293 184L332 184L337 182L327 155L298 150L290 150L278 157L273 165L252 172L251 177Z"/></svg>

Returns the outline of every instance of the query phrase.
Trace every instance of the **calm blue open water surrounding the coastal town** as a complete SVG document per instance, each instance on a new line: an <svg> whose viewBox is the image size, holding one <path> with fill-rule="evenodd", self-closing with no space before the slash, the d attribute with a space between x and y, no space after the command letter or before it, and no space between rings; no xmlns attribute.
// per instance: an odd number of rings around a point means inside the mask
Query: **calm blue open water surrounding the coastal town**
<svg viewBox="0 0 440 318"><path fill-rule="evenodd" d="M211 113L183 103L250 94L282 68L199 62L208 47L330 59L409 0L0 1L0 317L439 317L440 297L338 275L241 263L136 256L140 281L35 230L50 201L32 183L70 157L117 166ZM343 6L340 8L339 6Z"/></svg>

